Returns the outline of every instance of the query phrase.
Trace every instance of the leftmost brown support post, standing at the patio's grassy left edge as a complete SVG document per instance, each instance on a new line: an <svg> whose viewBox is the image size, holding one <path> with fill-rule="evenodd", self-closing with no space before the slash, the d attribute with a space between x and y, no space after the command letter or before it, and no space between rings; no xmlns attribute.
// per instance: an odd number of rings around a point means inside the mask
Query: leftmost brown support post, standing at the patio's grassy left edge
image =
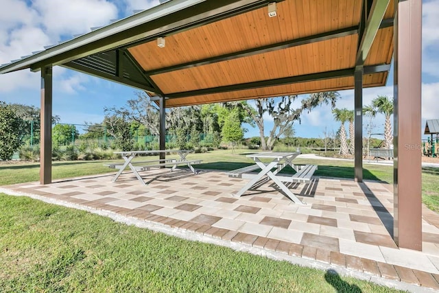
<svg viewBox="0 0 439 293"><path fill-rule="evenodd" d="M52 180L52 66L41 69L40 184Z"/></svg>

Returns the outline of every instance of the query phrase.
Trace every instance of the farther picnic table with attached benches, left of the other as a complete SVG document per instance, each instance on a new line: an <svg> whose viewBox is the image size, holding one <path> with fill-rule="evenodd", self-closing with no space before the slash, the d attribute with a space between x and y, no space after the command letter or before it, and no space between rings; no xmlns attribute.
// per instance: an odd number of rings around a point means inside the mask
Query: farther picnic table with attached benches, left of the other
<svg viewBox="0 0 439 293"><path fill-rule="evenodd" d="M132 159L134 159L135 156L139 156L143 154L159 154L163 152L176 153L178 154L178 156L180 156L180 159L158 159L158 160L150 160L150 161L132 162ZM186 156L191 152L193 151L192 150L136 150L136 151L128 151L128 152L114 152L115 154L120 154L122 156L124 163L106 164L106 166L113 169L119 169L119 172L117 172L115 177L112 178L112 182L115 182L117 178L121 176L122 172L126 169L126 167L129 167L131 171L134 173L134 175L137 177L137 179L139 179L141 183L143 183L143 185L147 185L147 183L143 181L143 178L140 176L139 172L148 171L156 167L161 168L161 167L171 166L169 172L173 172L178 165L187 165L187 167L191 169L193 174L196 174L197 172L192 165L199 164L202 161L201 160L188 161L186 159Z"/></svg>

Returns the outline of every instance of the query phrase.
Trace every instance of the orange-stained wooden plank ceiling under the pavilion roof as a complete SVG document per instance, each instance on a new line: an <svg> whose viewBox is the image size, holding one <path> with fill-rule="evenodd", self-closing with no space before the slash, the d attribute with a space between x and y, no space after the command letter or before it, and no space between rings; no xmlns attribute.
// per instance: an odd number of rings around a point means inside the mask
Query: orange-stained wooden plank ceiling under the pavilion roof
<svg viewBox="0 0 439 293"><path fill-rule="evenodd" d="M168 97L167 107L353 89L362 6L285 0L274 17L259 8L165 36L165 47L152 40L128 51ZM384 19L393 16L390 1ZM250 52L294 40L302 42ZM364 65L389 65L393 42L392 26L379 29ZM388 71L365 74L364 87L387 78Z"/></svg>

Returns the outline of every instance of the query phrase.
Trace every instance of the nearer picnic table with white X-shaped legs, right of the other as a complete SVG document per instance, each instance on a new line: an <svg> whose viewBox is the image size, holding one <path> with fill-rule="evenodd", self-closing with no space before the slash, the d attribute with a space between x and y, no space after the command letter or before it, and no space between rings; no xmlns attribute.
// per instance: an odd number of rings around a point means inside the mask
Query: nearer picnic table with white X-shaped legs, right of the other
<svg viewBox="0 0 439 293"><path fill-rule="evenodd" d="M248 154L248 158L252 158L254 165L236 169L228 172L229 177L250 178L251 180L242 187L235 196L242 196L248 189L252 188L264 176L268 176L274 183L282 189L285 195L296 202L302 204L296 195L283 184L283 182L307 183L311 180L311 176L316 171L316 165L294 165L292 161L298 156L300 152L259 152L255 154ZM271 159L270 163L263 163L261 159ZM292 176L284 176L278 174L286 166L291 166L296 173ZM274 171L272 169L276 168ZM251 174L250 172L260 169L259 173Z"/></svg>

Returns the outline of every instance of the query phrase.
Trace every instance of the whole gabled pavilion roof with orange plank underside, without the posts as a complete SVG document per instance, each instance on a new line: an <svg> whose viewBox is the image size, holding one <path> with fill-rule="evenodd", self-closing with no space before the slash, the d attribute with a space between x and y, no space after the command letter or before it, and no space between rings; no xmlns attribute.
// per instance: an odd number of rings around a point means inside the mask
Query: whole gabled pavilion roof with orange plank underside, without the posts
<svg viewBox="0 0 439 293"><path fill-rule="evenodd" d="M353 89L361 67L364 87L383 86L393 18L393 0L173 0L0 73L60 65L164 96L167 107Z"/></svg>

